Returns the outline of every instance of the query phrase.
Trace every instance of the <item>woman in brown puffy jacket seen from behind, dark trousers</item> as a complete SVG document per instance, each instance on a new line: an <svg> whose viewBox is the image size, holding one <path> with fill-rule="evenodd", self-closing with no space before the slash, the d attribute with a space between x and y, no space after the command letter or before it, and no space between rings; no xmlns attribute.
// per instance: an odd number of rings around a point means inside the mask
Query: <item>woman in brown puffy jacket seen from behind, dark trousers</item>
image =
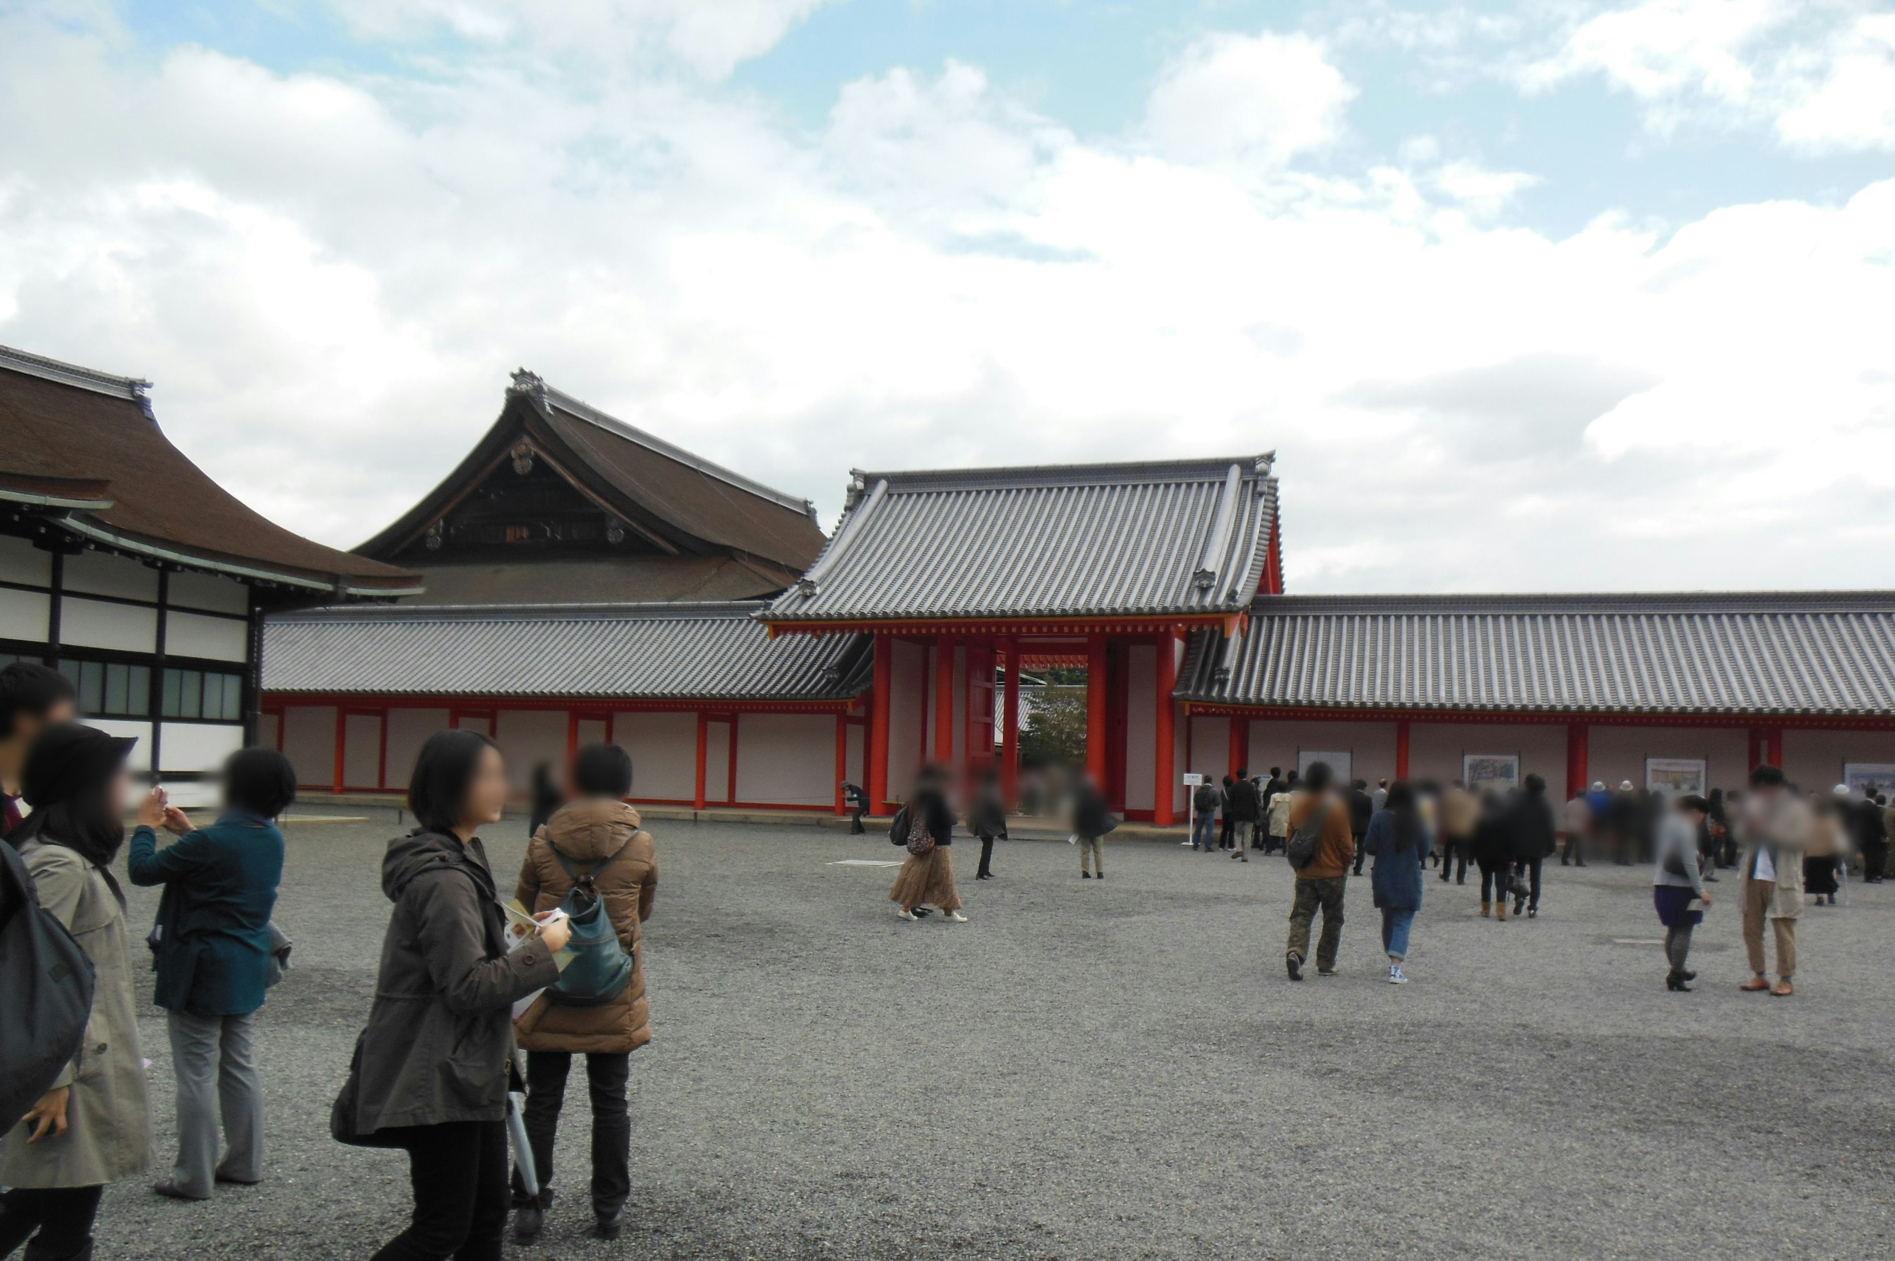
<svg viewBox="0 0 1895 1261"><path fill-rule="evenodd" d="M658 851L639 827L631 795L631 758L618 745L586 745L572 762L576 800L561 806L527 846L519 868L519 901L531 912L551 910L589 878L605 899L618 942L631 954L631 982L618 997L582 1007L542 994L514 1022L527 1051L527 1138L540 1176L529 1197L514 1183L514 1238L540 1233L551 1204L553 1136L572 1056L586 1056L586 1085L593 1113L591 1204L599 1234L616 1238L631 1197L631 1119L625 1115L625 1075L633 1051L652 1041L644 1001L642 923L658 897Z"/></svg>

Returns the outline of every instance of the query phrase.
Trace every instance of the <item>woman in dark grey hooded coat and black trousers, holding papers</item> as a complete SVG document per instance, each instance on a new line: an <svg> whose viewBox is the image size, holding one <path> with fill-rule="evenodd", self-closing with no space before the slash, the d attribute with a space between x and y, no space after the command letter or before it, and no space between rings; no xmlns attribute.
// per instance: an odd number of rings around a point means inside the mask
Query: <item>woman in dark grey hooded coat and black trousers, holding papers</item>
<svg viewBox="0 0 1895 1261"><path fill-rule="evenodd" d="M559 980L572 929L548 916L512 950L476 831L498 823L508 783L479 732L428 736L407 783L419 825L388 842L394 912L375 1003L343 1088L356 1136L407 1151L413 1217L375 1261L496 1261L506 1233L506 1092L514 1003Z"/></svg>

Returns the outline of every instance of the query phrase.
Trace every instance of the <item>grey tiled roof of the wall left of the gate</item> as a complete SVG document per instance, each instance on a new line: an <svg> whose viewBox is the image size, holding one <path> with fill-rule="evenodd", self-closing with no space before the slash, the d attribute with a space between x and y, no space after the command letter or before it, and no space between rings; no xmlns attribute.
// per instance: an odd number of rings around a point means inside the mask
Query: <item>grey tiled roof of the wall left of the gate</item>
<svg viewBox="0 0 1895 1261"><path fill-rule="evenodd" d="M756 601L377 605L271 616L263 688L379 696L841 700L866 635L771 639Z"/></svg>

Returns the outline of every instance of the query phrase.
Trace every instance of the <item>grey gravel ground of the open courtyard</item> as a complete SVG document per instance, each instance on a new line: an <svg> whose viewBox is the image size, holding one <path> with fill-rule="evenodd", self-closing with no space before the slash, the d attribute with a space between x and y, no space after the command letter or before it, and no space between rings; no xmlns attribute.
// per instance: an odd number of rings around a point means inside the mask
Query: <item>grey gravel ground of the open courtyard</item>
<svg viewBox="0 0 1895 1261"><path fill-rule="evenodd" d="M400 1229L406 1157L328 1138L394 831L288 831L267 1181L210 1204L121 1183L100 1257L366 1257ZM874 834L656 831L633 1221L589 1236L568 1092L565 1197L510 1255L1895 1253L1895 886L1806 912L1793 999L1738 992L1724 905L1698 931L1698 992L1668 994L1654 944L1615 942L1660 933L1649 870L1615 867L1548 868L1541 918L1508 923L1431 878L1404 988L1355 882L1342 975L1292 986L1281 859L1124 842L1097 884L1061 842L1012 842L978 884L961 844L970 922L904 923L894 868L834 865L891 859ZM521 832L493 829L502 872ZM131 895L148 922L155 891ZM144 1045L169 1162L159 1018Z"/></svg>

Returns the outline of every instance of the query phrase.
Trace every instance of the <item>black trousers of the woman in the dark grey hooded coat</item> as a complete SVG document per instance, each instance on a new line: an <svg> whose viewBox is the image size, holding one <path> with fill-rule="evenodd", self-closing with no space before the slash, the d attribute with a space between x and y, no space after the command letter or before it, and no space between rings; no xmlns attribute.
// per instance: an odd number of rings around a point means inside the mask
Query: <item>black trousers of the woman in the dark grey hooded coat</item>
<svg viewBox="0 0 1895 1261"><path fill-rule="evenodd" d="M506 1234L506 1123L449 1121L381 1134L407 1147L415 1215L375 1261L500 1261Z"/></svg>

